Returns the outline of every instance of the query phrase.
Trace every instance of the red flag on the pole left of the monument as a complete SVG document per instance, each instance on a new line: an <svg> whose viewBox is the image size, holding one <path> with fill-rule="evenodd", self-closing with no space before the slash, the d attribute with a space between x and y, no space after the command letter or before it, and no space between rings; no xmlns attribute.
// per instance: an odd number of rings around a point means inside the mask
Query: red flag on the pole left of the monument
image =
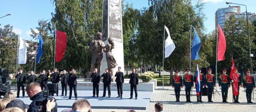
<svg viewBox="0 0 256 112"><path fill-rule="evenodd" d="M65 32L56 31L56 60L61 61L67 47L67 35Z"/></svg>

